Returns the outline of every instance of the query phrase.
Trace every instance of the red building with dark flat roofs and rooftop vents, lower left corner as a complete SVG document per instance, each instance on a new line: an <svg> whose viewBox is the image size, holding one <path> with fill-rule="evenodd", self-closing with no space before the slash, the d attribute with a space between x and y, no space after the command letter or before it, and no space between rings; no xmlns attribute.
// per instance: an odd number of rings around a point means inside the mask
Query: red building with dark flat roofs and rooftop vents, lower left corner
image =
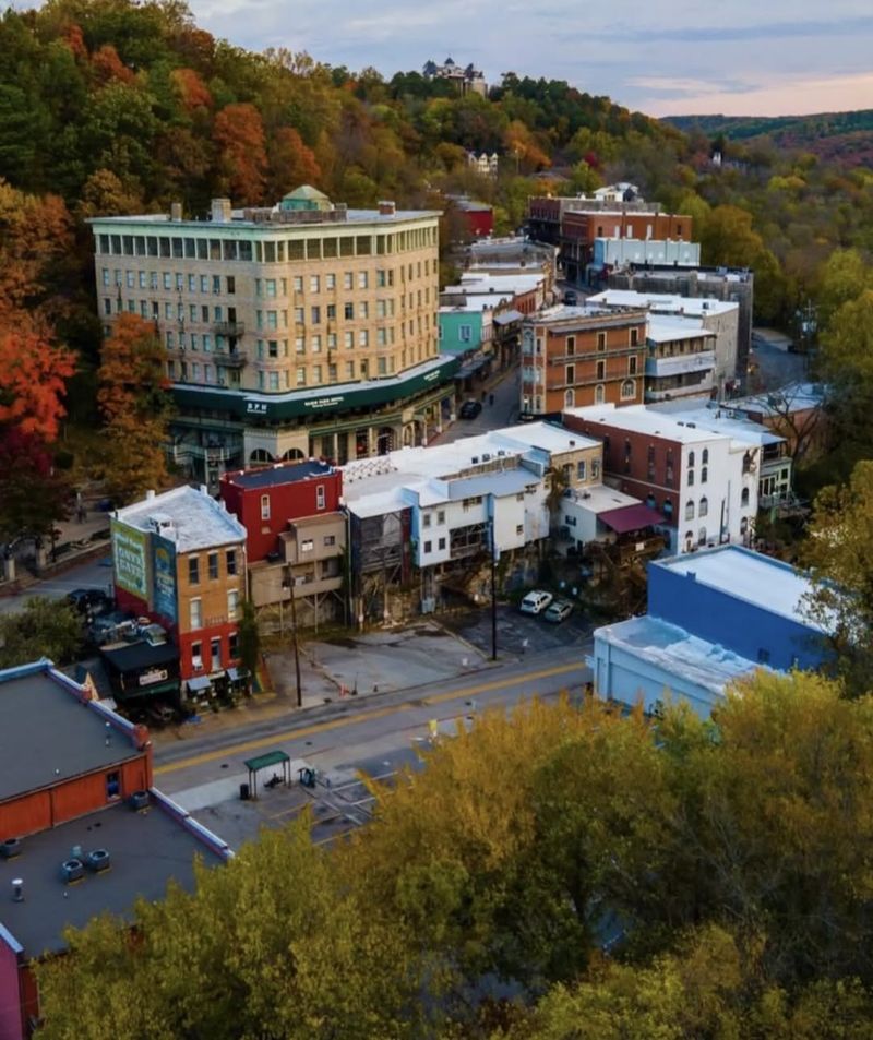
<svg viewBox="0 0 873 1040"><path fill-rule="evenodd" d="M127 918L230 852L152 788L152 745L41 660L0 671L0 1040L39 1015L34 958L103 912ZM111 868L111 869L110 869Z"/></svg>

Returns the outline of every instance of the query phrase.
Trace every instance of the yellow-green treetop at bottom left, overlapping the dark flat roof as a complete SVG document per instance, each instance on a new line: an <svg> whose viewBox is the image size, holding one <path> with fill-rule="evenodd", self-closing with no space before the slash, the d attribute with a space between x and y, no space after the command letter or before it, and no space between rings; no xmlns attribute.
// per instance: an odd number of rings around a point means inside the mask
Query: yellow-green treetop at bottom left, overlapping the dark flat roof
<svg viewBox="0 0 873 1040"><path fill-rule="evenodd" d="M198 869L196 886L140 902L136 943L107 917L70 931L70 956L36 966L41 1037L421 1036L406 928L386 929L342 884L308 816ZM142 1000L130 999L132 978Z"/></svg>

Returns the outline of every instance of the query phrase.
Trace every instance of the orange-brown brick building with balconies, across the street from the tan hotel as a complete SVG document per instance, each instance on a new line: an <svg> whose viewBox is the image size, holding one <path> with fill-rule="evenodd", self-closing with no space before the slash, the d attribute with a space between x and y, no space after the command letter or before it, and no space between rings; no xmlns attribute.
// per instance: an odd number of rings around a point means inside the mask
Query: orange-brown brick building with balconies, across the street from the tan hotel
<svg viewBox="0 0 873 1040"><path fill-rule="evenodd" d="M643 401L646 311L555 307L522 328L521 410Z"/></svg>

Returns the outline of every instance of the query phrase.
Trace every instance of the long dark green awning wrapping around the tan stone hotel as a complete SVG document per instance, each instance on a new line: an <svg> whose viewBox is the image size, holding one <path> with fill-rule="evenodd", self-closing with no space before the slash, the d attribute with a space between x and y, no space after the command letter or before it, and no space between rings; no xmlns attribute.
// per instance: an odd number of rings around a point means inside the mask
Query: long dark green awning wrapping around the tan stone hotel
<svg viewBox="0 0 873 1040"><path fill-rule="evenodd" d="M319 391L294 391L287 394L243 393L213 390L188 383L174 383L176 403L188 410L223 411L241 419L266 419L282 422L301 416L331 415L355 408L390 405L450 382L461 359L442 356L439 361L418 366L414 372L366 383L343 383Z"/></svg>

